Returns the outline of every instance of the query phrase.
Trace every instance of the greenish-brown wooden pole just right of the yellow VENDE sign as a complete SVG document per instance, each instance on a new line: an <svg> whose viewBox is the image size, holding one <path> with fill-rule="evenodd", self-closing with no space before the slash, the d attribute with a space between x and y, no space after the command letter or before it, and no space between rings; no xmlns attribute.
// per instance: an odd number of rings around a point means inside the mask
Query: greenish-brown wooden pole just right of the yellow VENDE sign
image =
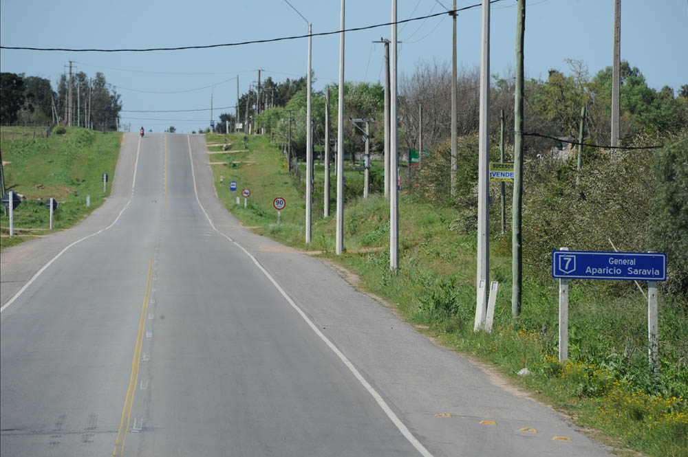
<svg viewBox="0 0 688 457"><path fill-rule="evenodd" d="M516 12L516 86L514 102L514 189L511 208L511 315L521 315L523 245L521 204L523 199L523 38L526 32L526 0L518 0Z"/></svg>

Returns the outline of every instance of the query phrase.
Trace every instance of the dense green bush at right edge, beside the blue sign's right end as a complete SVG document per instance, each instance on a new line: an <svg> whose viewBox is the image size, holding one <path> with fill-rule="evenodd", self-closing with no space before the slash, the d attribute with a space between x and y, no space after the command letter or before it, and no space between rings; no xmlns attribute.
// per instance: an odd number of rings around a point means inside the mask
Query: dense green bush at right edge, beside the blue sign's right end
<svg viewBox="0 0 688 457"><path fill-rule="evenodd" d="M688 134L656 153L650 245L667 254L666 287L688 294Z"/></svg>

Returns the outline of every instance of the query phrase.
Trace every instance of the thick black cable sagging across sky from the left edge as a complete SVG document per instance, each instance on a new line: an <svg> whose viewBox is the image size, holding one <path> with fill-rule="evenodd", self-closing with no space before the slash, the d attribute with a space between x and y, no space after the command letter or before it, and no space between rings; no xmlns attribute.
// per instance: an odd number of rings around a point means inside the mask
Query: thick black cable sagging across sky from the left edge
<svg viewBox="0 0 688 457"><path fill-rule="evenodd" d="M490 3L497 3L502 0L491 0ZM477 3L475 5L470 5L470 6L465 6L464 8L458 8L456 10L449 10L448 12L439 12L435 14L429 14L428 16L420 16L420 17L413 17L411 19L402 19L401 21L396 21L396 22L385 22L381 24L375 24L375 25L365 25L364 27L354 27L350 29L344 29L344 30L335 30L333 32L321 32L321 33L315 33L315 34L305 34L305 35L296 35L296 36L283 36L281 38L268 38L264 40L252 40L252 41L239 41L237 43L222 43L222 44L217 44L217 45L200 45L200 46L178 46L178 47L149 47L149 48L140 48L140 49L71 49L67 47L28 47L28 46L0 46L0 49L19 49L19 50L24 50L24 51L65 51L65 52L155 52L155 51L182 51L185 49L211 49L213 47L229 47L229 46L243 46L243 45L254 45L254 44L259 44L259 43L275 43L276 41L286 41L286 40L296 40L299 38L308 38L309 36L327 36L327 35L335 35L335 34L340 34L342 32L358 32L360 30L370 30L374 29L377 27L385 27L387 25L393 25L393 24L402 24L402 23L407 23L411 21L422 21L424 19L428 19L431 17L436 17L436 16L442 16L443 14L447 13L456 13L456 12L461 12L465 10L470 10L471 8L477 8L479 6L482 6L482 3Z"/></svg>

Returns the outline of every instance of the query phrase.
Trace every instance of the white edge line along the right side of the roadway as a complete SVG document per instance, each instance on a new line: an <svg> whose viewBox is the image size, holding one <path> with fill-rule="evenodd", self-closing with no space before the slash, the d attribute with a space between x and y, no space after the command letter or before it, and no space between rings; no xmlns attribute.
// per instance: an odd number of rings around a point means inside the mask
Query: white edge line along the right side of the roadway
<svg viewBox="0 0 688 457"><path fill-rule="evenodd" d="M422 455L423 457L433 457L433 455L422 445L422 443L420 443L420 441L418 441L418 438L416 438L416 436L413 436L413 433L411 433L411 431L408 429L408 427L401 421L401 419L399 419L399 417L394 413L394 411L392 411L391 408L389 408L389 405L387 405L387 402L385 401L385 399L383 399L383 397L380 394L378 394L378 392L373 388L373 386L371 386L370 383L368 383L368 381L365 380L363 375L361 375L361 372L359 372L356 369L354 364L352 364L352 362L341 352L341 350L339 350L337 348L337 346L335 346L334 343L332 343L330 341L330 339L328 339L320 331L320 329L313 323L313 321L310 320L310 317L308 317L308 315L306 315L303 312L303 310L301 308L299 308L299 306L294 302L294 300L292 300L292 298L290 296L288 296L288 294L284 291L284 289L282 289L280 287L280 285L277 284L277 281L275 280L275 278L272 278L270 273L268 273L268 271L262 265L260 265L258 260L254 256L252 256L252 254L250 254L250 252L248 252L243 246L241 246L236 241L233 241L233 239L230 238L229 236L227 236L226 234L217 230L215 225L213 225L211 218L208 216L208 213L203 208L203 205L202 205L200 199L198 198L198 191L196 189L196 178L195 178L195 174L193 172L193 157L191 157L191 140L189 140L189 135L186 136L186 140L189 141L189 160L191 161L191 176L193 177L193 191L196 194L196 201L198 201L198 204L200 205L201 210L206 215L206 218L208 219L208 223L210 223L211 227L213 227L213 230L215 230L215 232L217 232L220 235L227 238L231 243L234 243L235 245L237 245L237 247L239 247L239 249L244 251L244 253L251 260L253 260L253 263L255 263L255 265L258 267L258 269L263 272L263 274L268 278L268 280L270 280L270 282L272 282L272 285L275 286L275 289L277 289L279 291L279 293L281 293L281 295L285 298L285 300L287 300L287 302L292 306L292 308L295 311L297 311L297 313L299 313L299 315L301 315L301 318L303 318L303 320L305 320L306 324L308 324L308 326L310 326L312 331L316 335L318 335L320 337L320 339L322 339L323 342L325 342L325 344L327 344L327 346L332 350L332 352L337 357L339 357L339 359L343 362L343 364L347 368L349 368L349 370L353 373L354 377L356 377L356 379L358 379L358 382L360 382L361 385L365 388L365 390L367 390L368 393L372 395L372 397L378 403L380 408L382 408L382 410L385 412L385 414L387 414L387 417L389 417L389 419L392 421L392 423L394 423L394 425L396 425L398 430L409 441L409 443L411 443L411 445L413 445L413 447L416 448L416 450L420 453L420 455Z"/></svg>

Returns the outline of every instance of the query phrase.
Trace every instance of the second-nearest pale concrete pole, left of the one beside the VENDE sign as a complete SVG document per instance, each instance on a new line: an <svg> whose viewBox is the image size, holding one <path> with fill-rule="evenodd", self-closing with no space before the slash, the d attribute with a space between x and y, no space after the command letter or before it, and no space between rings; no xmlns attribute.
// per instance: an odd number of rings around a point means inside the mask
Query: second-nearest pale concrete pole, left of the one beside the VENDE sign
<svg viewBox="0 0 688 457"><path fill-rule="evenodd" d="M391 1L391 71L389 80L389 269L399 271L399 191L397 187L396 0Z"/></svg>

